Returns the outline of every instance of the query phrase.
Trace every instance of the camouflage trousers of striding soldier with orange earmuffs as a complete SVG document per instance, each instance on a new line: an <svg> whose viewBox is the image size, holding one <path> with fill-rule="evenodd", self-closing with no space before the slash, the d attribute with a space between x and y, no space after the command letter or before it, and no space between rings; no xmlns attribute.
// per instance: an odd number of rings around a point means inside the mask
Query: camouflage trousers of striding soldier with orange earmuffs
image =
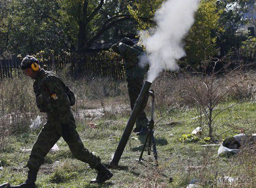
<svg viewBox="0 0 256 188"><path fill-rule="evenodd" d="M72 154L78 160L86 162L92 169L100 164L100 158L83 146L78 132L76 131L75 120L72 112L68 114L68 122L61 125L56 117L48 116L48 121L37 136L33 145L27 167L31 171L38 171L45 156L62 136L68 144Z"/></svg>

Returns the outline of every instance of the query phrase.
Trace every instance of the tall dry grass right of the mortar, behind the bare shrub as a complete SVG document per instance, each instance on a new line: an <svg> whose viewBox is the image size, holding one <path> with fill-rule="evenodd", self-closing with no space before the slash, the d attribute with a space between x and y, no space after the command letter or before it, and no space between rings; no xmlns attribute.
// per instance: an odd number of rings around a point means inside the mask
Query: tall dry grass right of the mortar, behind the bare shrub
<svg viewBox="0 0 256 188"><path fill-rule="evenodd" d="M236 84L244 78L250 78ZM254 79L254 80L253 80ZM256 74L254 71L246 73L243 70L234 72L228 76L215 76L214 81L221 83L216 89L216 94L226 88L231 88L223 97L221 102L233 100L254 100L256 93ZM205 76L191 74L162 73L153 83L156 91L157 105L159 107L193 107L197 101L188 91L196 88L198 95L202 99L207 99L207 89L205 87ZM236 85L235 85L236 84ZM232 85L235 85L232 87Z"/></svg>

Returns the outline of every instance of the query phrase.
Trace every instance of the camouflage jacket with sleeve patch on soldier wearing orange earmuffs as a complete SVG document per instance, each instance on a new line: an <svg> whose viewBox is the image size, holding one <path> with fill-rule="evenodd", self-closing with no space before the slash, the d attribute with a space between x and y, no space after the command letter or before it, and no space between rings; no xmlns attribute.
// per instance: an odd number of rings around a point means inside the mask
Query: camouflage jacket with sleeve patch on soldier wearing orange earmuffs
<svg viewBox="0 0 256 188"><path fill-rule="evenodd" d="M52 72L41 69L34 84L36 104L48 116L61 117L70 112L70 101L66 85Z"/></svg>

